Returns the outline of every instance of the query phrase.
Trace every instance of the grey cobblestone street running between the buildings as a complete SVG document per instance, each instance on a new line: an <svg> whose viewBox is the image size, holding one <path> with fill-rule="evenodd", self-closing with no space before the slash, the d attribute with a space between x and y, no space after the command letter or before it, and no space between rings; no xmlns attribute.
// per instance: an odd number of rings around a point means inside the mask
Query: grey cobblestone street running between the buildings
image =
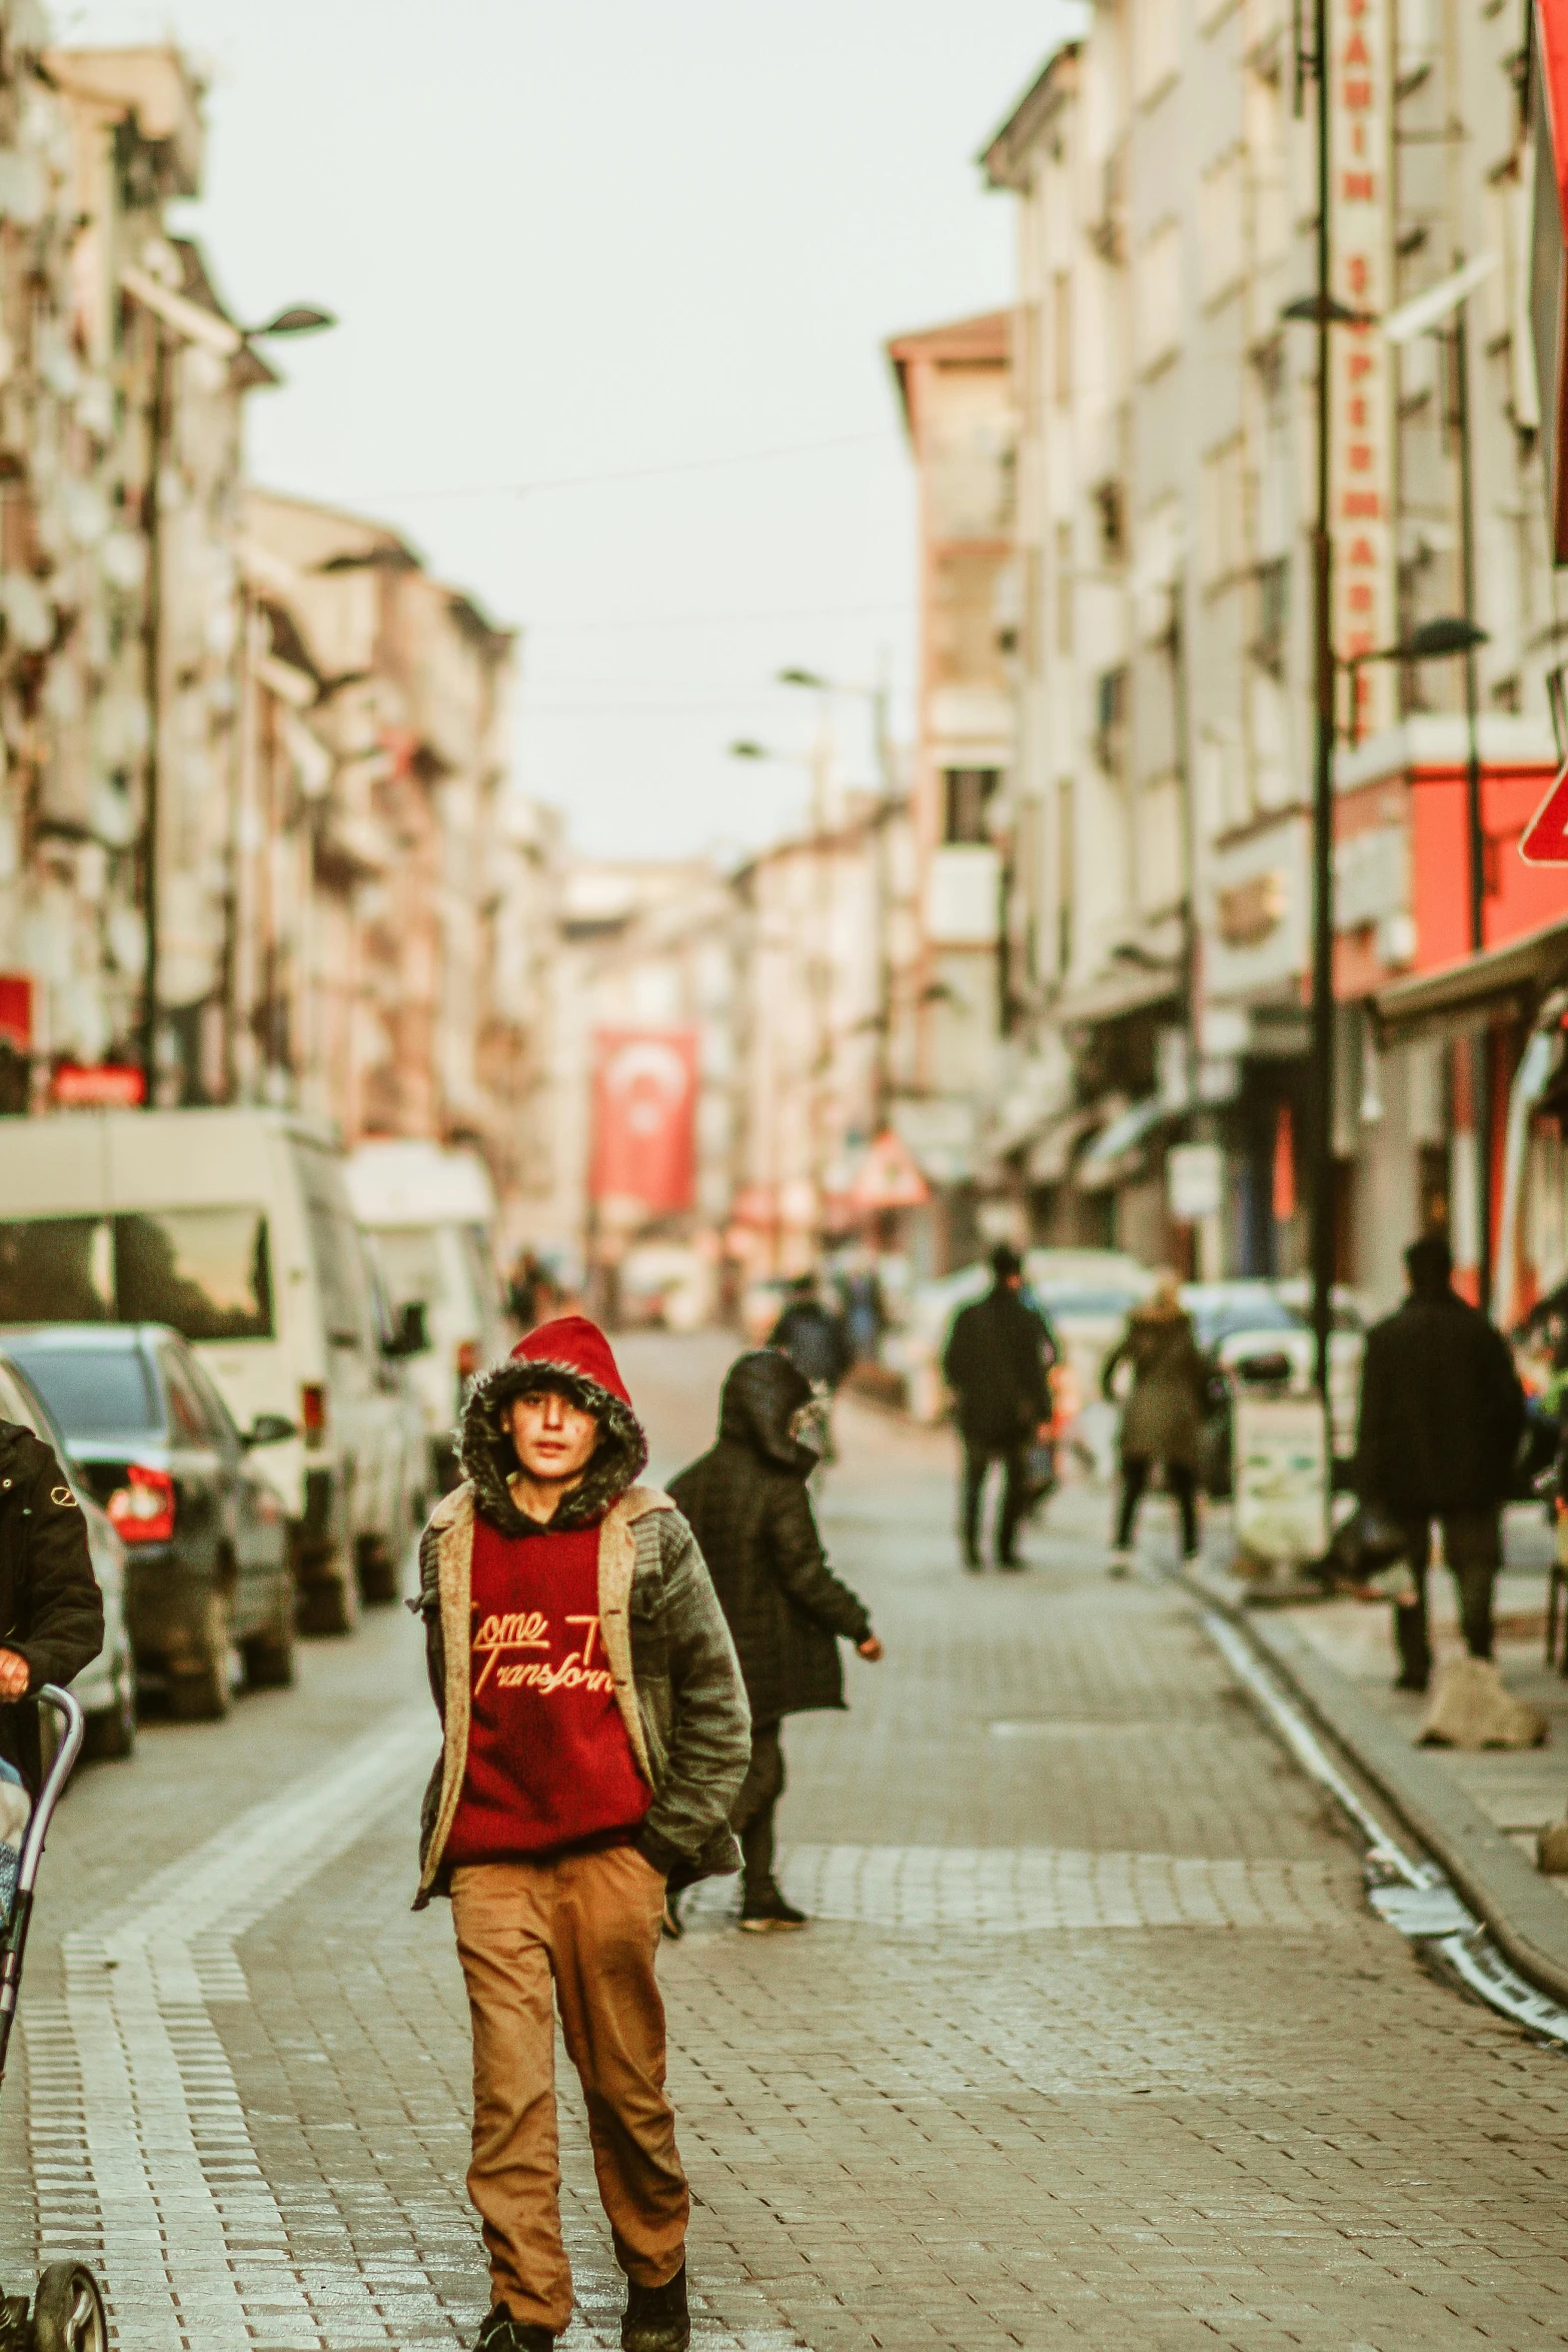
<svg viewBox="0 0 1568 2352"><path fill-rule="evenodd" d="M654 1472L724 1348L623 1367ZM889 1658L788 1729L804 1936L710 1884L665 1947L710 2347L1450 2352L1568 2343L1568 2060L1429 1978L1356 1849L1098 1496L1032 1571L957 1569L945 1435L839 1414L825 1519ZM127 2352L451 2345L484 2307L444 1907L409 1915L435 1752L376 1611L301 1686L148 1724L68 1802L0 2133L0 2274L101 2265ZM621 2279L576 2086L583 2317Z"/></svg>

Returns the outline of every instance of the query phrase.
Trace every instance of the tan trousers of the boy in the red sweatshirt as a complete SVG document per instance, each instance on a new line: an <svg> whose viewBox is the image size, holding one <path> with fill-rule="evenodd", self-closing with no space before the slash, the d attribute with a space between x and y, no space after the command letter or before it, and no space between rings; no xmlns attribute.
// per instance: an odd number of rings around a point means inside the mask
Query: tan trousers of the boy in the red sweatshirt
<svg viewBox="0 0 1568 2352"><path fill-rule="evenodd" d="M663 2286L684 2260L686 2176L665 2098L665 2006L654 1978L665 1882L630 1846L555 1863L470 1863L451 1912L473 2018L473 2164L491 2303L552 2328L571 2319L555 2122L555 2016L583 2082L616 2260Z"/></svg>

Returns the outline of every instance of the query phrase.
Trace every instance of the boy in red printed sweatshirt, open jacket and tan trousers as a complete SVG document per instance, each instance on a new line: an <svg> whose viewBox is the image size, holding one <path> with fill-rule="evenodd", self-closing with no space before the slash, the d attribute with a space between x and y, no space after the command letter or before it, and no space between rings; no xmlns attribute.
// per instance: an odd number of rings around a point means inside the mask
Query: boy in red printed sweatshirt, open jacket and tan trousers
<svg viewBox="0 0 1568 2352"><path fill-rule="evenodd" d="M703 1555L670 1496L635 1484L644 1463L609 1341L564 1315L475 1381L463 1482L418 1550L444 1743L414 1907L451 1896L468 1983L482 2352L548 2352L571 2321L552 1983L628 2277L621 2343L691 2336L654 1957L668 1882L738 1865L750 1717Z"/></svg>

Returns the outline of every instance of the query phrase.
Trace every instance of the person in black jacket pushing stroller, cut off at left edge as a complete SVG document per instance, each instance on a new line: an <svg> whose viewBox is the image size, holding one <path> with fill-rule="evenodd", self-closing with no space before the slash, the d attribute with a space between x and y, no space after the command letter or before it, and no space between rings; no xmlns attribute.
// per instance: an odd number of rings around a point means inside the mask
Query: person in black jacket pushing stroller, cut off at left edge
<svg viewBox="0 0 1568 2352"><path fill-rule="evenodd" d="M73 1682L103 1649L103 1595L87 1526L54 1449L0 1421L0 1755L38 1795L45 1682Z"/></svg>

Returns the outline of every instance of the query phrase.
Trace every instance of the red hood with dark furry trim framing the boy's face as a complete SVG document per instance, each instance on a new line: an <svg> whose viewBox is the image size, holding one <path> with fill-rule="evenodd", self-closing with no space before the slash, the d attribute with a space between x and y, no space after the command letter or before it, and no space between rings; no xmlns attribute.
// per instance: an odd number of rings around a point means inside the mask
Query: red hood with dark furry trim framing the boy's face
<svg viewBox="0 0 1568 2352"><path fill-rule="evenodd" d="M505 1364L480 1374L463 1406L458 1468L473 1479L475 1510L503 1536L538 1534L538 1519L517 1510L508 1491L508 1479L517 1475L508 1421L517 1397L536 1397L545 1388L599 1423L592 1461L550 1519L552 1529L592 1526L637 1482L649 1458L609 1341L585 1315L557 1315L517 1341Z"/></svg>

